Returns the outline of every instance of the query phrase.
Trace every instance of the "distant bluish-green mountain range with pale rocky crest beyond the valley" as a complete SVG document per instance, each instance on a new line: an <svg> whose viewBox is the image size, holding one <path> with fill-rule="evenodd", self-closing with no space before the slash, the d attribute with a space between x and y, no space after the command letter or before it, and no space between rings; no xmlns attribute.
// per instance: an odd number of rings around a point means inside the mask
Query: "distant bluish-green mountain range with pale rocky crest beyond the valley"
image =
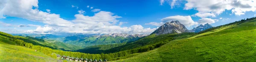
<svg viewBox="0 0 256 62"><path fill-rule="evenodd" d="M79 46L95 46L95 45L107 45L107 44L116 44L116 43L130 43L135 40L138 40L147 35L129 35L125 33L113 33L108 35L93 35L93 36L84 36L84 35L73 35L67 36L63 40L64 43L69 43Z"/></svg>

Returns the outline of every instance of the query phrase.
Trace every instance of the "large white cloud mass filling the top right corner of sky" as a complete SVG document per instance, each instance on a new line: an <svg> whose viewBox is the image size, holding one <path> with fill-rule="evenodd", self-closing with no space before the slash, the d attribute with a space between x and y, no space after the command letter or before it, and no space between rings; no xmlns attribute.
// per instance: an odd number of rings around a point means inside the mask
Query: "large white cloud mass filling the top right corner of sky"
<svg viewBox="0 0 256 62"><path fill-rule="evenodd" d="M256 0L187 0L185 10L194 8L204 13L219 15L225 10L232 10L237 16L247 11L256 10Z"/></svg>

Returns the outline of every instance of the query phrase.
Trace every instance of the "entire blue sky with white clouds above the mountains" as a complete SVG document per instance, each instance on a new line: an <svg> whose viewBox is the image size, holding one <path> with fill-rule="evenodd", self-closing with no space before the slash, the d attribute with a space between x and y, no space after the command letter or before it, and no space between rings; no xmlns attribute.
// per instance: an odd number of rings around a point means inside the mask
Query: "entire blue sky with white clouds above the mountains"
<svg viewBox="0 0 256 62"><path fill-rule="evenodd" d="M219 26L255 17L254 1L3 0L0 2L4 3L0 5L0 31L150 34L172 20L179 20L191 30L199 24Z"/></svg>

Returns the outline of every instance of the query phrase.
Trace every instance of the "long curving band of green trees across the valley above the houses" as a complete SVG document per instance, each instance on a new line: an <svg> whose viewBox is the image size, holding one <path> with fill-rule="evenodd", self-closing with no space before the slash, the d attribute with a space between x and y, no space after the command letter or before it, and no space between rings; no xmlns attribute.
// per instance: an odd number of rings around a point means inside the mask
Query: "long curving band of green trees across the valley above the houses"
<svg viewBox="0 0 256 62"><path fill-rule="evenodd" d="M167 36L169 36L169 35L167 35ZM88 59L107 59L109 61L118 60L118 58L116 59L116 57L123 57L123 56L127 56L129 54L149 51L149 50L158 48L158 47L168 43L170 40L174 40L174 38L163 39L163 40L160 40L160 42L157 42L154 44L148 44L148 45L136 48L136 49L128 49L128 50L119 51L119 52L115 52L115 53L109 53L109 54L103 54L103 53L101 53L101 54L85 54L85 53L81 53L81 52L54 50L49 47L34 45L33 43L26 42L27 40L29 40L27 38L24 38L21 36L13 36L13 35L10 35L10 34L4 33L4 32L0 32L0 37L6 38L8 40L12 40L16 43L16 45L24 46L29 49L35 49L36 51L47 54L48 56L51 56L53 58L56 58L56 55L54 55L54 54L52 55L52 53L56 53L56 54L60 54L61 56L65 55L65 56L70 56L70 57L79 57L79 58L88 58Z"/></svg>

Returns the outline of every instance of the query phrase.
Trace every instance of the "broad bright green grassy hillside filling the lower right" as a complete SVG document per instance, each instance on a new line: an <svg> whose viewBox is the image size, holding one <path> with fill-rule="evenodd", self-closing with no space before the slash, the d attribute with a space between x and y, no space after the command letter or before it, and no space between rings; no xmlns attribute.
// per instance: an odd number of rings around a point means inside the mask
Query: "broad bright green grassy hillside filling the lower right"
<svg viewBox="0 0 256 62"><path fill-rule="evenodd" d="M220 27L116 62L255 62L255 28L256 20Z"/></svg>

